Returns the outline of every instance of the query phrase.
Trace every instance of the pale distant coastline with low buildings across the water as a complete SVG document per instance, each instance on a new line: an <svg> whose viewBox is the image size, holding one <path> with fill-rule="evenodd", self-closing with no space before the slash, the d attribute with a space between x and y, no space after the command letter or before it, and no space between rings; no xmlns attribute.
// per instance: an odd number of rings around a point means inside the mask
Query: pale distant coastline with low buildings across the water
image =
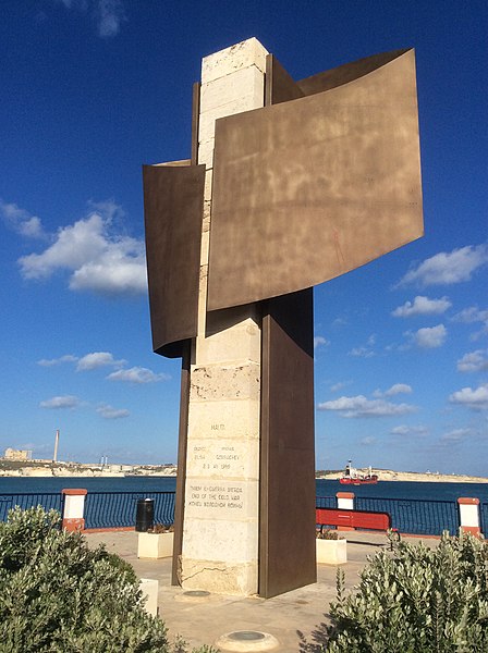
<svg viewBox="0 0 488 653"><path fill-rule="evenodd" d="M367 473L369 468L359 469ZM40 478L124 478L124 477L175 477L175 465L96 465L84 463L51 463L48 460L10 461L0 459L0 477ZM394 471L373 469L380 481L413 481L432 483L488 483L486 477L447 475L438 472ZM342 470L319 470L316 479L338 480Z"/></svg>

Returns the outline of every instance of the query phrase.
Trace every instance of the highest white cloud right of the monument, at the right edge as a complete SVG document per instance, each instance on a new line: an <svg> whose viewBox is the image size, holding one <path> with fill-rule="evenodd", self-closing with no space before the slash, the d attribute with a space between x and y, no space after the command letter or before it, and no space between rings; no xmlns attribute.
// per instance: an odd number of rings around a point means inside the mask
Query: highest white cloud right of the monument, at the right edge
<svg viewBox="0 0 488 653"><path fill-rule="evenodd" d="M399 285L447 285L469 281L473 272L488 263L486 245L468 245L451 252L441 251L410 270Z"/></svg>

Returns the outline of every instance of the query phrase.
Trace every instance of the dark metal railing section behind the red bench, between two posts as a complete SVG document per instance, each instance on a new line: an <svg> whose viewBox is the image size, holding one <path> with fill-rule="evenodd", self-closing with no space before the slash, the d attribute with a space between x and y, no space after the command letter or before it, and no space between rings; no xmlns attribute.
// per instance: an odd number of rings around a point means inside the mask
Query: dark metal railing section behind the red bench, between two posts
<svg viewBox="0 0 488 653"><path fill-rule="evenodd" d="M354 507L357 510L388 513L392 528L401 533L440 535L448 530L455 535L460 529L460 513L454 501L356 496Z"/></svg>

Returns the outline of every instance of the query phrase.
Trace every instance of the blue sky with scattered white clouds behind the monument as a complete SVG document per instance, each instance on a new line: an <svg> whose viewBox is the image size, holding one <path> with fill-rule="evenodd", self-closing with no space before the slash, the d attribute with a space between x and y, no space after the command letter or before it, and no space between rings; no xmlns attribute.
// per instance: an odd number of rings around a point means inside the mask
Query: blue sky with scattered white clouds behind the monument
<svg viewBox="0 0 488 653"><path fill-rule="evenodd" d="M202 58L303 78L414 47L425 236L315 288L317 469L488 476L484 0L3 0L0 452L176 459L151 350L142 164L190 156Z"/></svg>

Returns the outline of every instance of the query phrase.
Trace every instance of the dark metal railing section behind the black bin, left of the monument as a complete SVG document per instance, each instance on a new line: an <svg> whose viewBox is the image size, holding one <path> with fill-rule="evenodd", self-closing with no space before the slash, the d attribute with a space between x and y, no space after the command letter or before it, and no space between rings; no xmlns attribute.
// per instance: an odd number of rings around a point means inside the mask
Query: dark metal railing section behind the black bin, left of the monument
<svg viewBox="0 0 488 653"><path fill-rule="evenodd" d="M137 501L152 498L155 523L174 521L174 492L88 492L85 498L85 528L134 527Z"/></svg>

